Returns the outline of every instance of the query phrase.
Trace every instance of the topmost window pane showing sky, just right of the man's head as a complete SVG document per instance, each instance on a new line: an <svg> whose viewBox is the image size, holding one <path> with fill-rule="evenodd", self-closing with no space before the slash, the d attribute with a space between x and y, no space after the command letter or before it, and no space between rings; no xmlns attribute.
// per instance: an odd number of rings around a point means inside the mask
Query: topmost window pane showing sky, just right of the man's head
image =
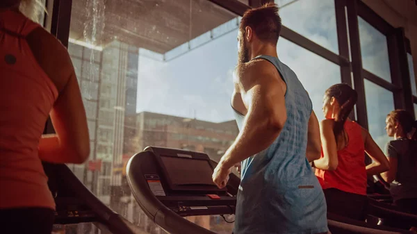
<svg viewBox="0 0 417 234"><path fill-rule="evenodd" d="M282 24L338 54L334 0L275 0Z"/></svg>

